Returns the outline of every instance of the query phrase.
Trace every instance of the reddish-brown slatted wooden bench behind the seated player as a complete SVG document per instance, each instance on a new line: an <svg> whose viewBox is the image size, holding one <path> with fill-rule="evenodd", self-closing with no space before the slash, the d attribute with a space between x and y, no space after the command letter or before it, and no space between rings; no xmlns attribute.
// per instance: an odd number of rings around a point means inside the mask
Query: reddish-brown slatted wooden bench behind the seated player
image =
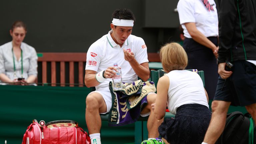
<svg viewBox="0 0 256 144"><path fill-rule="evenodd" d="M39 84L51 86L84 85L87 53L38 53ZM150 62L160 62L158 53L148 53Z"/></svg>

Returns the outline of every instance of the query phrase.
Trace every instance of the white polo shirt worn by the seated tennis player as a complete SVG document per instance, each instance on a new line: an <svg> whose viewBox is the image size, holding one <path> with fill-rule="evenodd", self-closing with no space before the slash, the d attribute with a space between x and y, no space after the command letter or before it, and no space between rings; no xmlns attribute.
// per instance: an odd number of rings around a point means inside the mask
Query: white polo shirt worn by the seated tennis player
<svg viewBox="0 0 256 144"><path fill-rule="evenodd" d="M133 52L135 59L141 64L148 62L145 42L140 37L130 35L121 48L110 36L112 32L112 30L109 31L108 34L104 35L90 46L87 52L85 70L100 72L110 66L114 66L114 63L117 63L117 65L121 67L123 82L134 82L138 80L138 76L135 74L129 62L124 59L123 48ZM110 81L112 81L112 79L106 79L103 83L96 86L96 90L99 88L109 89L108 85Z"/></svg>

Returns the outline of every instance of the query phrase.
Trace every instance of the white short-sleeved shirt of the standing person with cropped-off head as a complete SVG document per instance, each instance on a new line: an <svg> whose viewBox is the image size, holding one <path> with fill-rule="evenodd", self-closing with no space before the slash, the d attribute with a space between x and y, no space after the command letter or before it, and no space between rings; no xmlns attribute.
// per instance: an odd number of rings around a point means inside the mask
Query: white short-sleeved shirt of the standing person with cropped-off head
<svg viewBox="0 0 256 144"><path fill-rule="evenodd" d="M177 10L185 37L192 38L184 25L187 22L194 22L196 28L206 37L219 35L216 4L214 0L206 0L206 2L207 6L204 0L179 0Z"/></svg>

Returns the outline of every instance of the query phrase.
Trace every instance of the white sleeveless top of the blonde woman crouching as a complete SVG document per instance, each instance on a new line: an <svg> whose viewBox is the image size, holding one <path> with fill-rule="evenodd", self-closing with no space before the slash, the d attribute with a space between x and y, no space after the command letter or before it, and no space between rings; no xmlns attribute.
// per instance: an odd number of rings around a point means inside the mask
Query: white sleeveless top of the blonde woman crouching
<svg viewBox="0 0 256 144"><path fill-rule="evenodd" d="M176 114L178 107L184 104L201 104L209 108L204 85L200 76L188 70L173 70L169 77L167 104L171 113Z"/></svg>

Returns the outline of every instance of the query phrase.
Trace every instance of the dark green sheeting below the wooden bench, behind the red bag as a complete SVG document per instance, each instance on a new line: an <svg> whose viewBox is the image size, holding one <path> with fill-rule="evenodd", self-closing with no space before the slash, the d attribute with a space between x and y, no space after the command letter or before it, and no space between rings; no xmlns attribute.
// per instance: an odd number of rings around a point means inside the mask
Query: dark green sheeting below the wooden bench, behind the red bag
<svg viewBox="0 0 256 144"><path fill-rule="evenodd" d="M85 122L86 87L3 86L0 85L0 144L21 144L23 134L33 119L46 123L74 120L88 132ZM104 144L134 142L134 124L108 127L102 121Z"/></svg>

